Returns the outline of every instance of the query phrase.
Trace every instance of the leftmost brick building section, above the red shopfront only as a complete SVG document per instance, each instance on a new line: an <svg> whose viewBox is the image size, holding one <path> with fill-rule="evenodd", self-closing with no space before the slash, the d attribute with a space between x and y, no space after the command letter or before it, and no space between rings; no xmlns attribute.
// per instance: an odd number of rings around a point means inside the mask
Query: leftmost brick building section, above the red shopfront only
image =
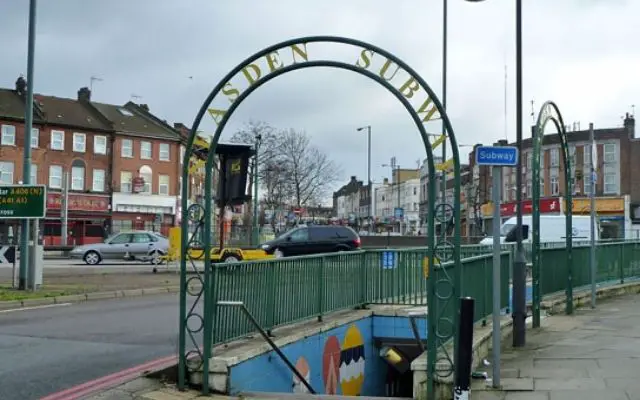
<svg viewBox="0 0 640 400"><path fill-rule="evenodd" d="M0 183L22 181L25 146L26 81L0 89ZM31 183L47 186L47 213L41 224L45 245L61 242L61 192L69 187L68 243L102 240L109 215L109 121L82 104L34 95ZM17 235L18 221L0 222L0 236ZM11 228L10 228L11 227ZM2 240L0 240L2 241Z"/></svg>

